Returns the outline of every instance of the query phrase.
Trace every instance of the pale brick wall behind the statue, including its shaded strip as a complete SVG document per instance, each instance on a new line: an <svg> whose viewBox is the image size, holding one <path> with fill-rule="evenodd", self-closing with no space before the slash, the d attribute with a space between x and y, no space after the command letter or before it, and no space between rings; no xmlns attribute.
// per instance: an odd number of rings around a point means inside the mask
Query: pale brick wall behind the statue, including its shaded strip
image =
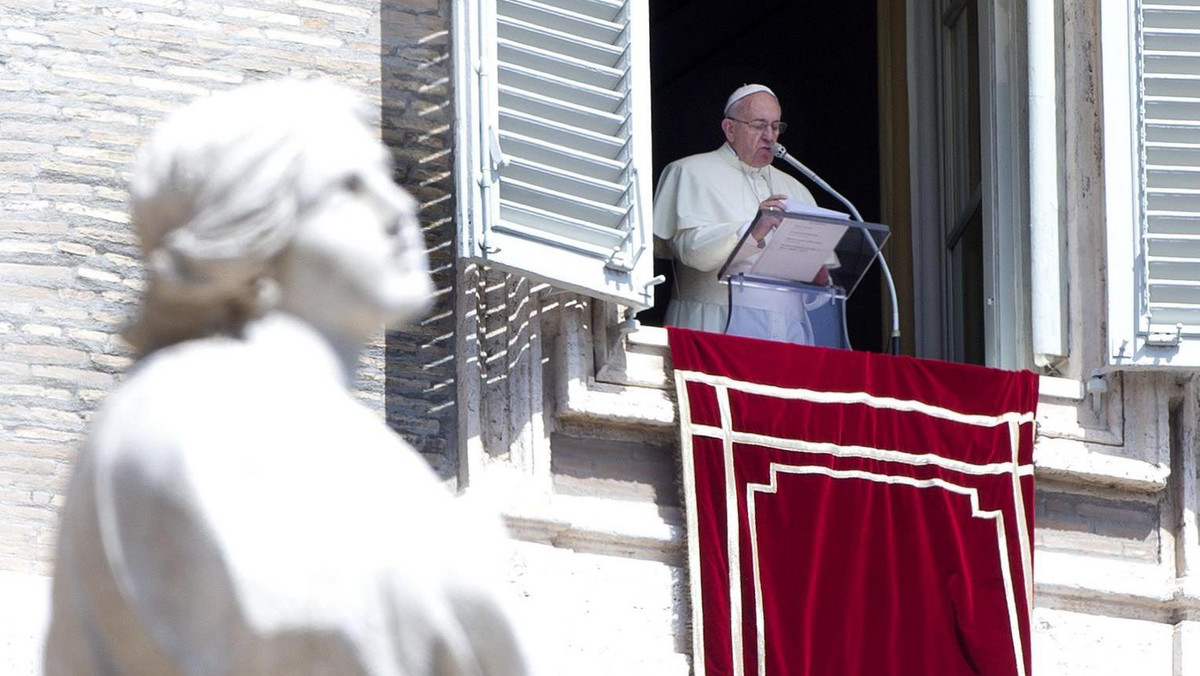
<svg viewBox="0 0 1200 676"><path fill-rule="evenodd" d="M326 74L380 104L421 203L431 318L368 349L359 393L454 472L449 0L5 0L0 6L0 570L47 573L91 413L131 364L137 145L214 90Z"/></svg>

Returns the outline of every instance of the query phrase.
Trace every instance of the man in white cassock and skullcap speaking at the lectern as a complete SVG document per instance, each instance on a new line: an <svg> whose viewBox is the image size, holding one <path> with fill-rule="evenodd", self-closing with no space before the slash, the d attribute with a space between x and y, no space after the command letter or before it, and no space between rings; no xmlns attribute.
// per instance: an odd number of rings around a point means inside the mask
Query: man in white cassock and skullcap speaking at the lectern
<svg viewBox="0 0 1200 676"><path fill-rule="evenodd" d="M724 333L728 286L716 274L744 228L761 209L782 210L787 199L815 204L808 189L770 166L772 145L787 127L780 115L770 89L740 86L725 103L721 130L726 143L662 171L654 193L655 244L666 244L680 263L674 267L668 325ZM803 295L743 294L739 307L756 324L752 334L757 337L812 342Z"/></svg>

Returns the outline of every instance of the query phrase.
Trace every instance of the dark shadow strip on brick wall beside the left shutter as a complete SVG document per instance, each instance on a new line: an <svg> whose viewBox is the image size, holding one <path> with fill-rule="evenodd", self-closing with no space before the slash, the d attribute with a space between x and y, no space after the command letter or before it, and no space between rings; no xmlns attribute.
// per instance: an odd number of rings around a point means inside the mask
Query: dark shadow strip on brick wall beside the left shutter
<svg viewBox="0 0 1200 676"><path fill-rule="evenodd" d="M389 331L365 358L384 361L376 372L384 373L388 424L450 479L457 472L450 2L385 0L379 34L383 140L396 183L420 203L436 291L420 323Z"/></svg>

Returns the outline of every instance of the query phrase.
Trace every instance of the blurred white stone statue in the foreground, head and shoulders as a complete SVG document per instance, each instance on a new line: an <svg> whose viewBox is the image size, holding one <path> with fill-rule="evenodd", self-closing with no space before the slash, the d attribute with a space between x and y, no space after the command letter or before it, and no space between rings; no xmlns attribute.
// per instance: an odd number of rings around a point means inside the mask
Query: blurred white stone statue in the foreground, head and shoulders
<svg viewBox="0 0 1200 676"><path fill-rule="evenodd" d="M348 390L432 286L353 96L276 82L142 150L142 358L62 514L47 674L517 675L499 524Z"/></svg>

